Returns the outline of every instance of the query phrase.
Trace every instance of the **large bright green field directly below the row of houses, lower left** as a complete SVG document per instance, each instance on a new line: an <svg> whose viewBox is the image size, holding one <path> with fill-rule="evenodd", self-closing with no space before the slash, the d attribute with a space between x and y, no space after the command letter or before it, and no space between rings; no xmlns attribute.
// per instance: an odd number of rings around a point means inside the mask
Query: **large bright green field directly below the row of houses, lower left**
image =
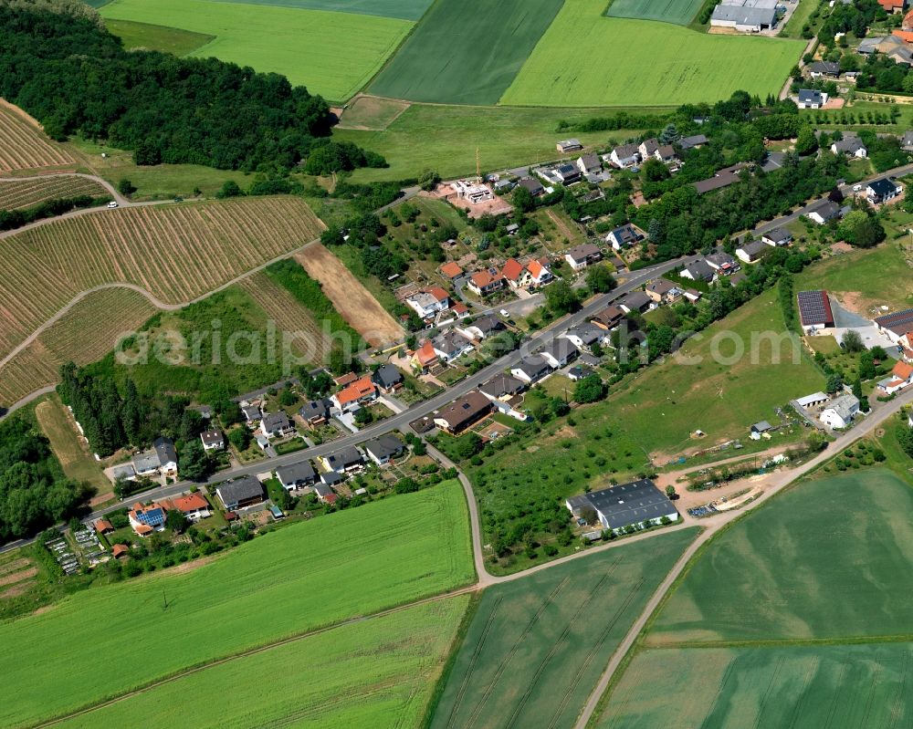
<svg viewBox="0 0 913 729"><path fill-rule="evenodd" d="M456 481L446 482L288 526L181 569L91 588L0 625L0 725L34 724L189 666L467 584L466 501ZM281 677L272 678L278 686Z"/></svg>

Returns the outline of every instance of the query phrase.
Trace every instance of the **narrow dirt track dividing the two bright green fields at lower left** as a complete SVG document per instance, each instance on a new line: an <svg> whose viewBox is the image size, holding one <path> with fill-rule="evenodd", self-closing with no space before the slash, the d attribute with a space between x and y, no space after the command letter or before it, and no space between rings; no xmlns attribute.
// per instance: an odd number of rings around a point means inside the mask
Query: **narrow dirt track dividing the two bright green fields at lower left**
<svg viewBox="0 0 913 729"><path fill-rule="evenodd" d="M450 599L450 598L458 598L460 595L467 595L467 594L477 592L478 589L479 589L478 584L474 583L472 585L467 585L462 588L448 590L447 592L442 592L438 595L432 595L427 598L413 600L412 602L407 602L407 603L404 603L403 605L396 605L393 608L386 608L383 610L379 610L378 612L368 613L366 615L354 616L352 618L347 618L346 620L341 620L340 622L332 623L331 625L325 625L322 628L316 628L314 630L307 630L305 632L297 633L295 635L291 635L286 638L282 638L280 640L273 640L271 642L264 643L263 645L257 646L257 648L251 648L251 649L248 649L247 651L232 653L230 655L223 656L222 658L215 659L214 661L207 661L205 663L201 663L200 665L184 669L183 671L172 673L170 676L165 676L165 677L163 677L161 679L157 679L151 683L147 683L144 686L140 686L139 688L131 689L131 691L121 693L117 696L114 696L114 697L107 699L105 701L102 701L100 703L94 703L91 706L83 707L82 709L78 709L77 711L55 716L52 719L48 719L47 721L43 721L38 724L30 724L30 726L33 727L33 729L40 729L41 727L45 727L45 726L56 726L57 724L60 724L62 722L66 722L66 721L69 721L70 719L74 719L77 716L84 716L87 713L96 712L100 709L104 709L105 707L111 706L115 703L121 703L122 701L126 701L127 699L130 699L131 697L137 696L141 693L149 693L150 691L152 691L152 689L158 688L159 686L163 686L167 683L173 683L175 681L185 678L186 676L191 676L194 673L204 672L207 669L215 668L216 666L224 665L226 663L230 663L232 661L237 661L239 659L248 658L249 656L257 655L258 653L265 653L267 651L272 651L274 648L281 648L282 646L290 645L292 643L297 643L300 640L306 640L315 635L321 635L322 633L327 633L327 632L330 632L331 630L336 630L338 628L345 628L350 625L356 625L358 623L365 622L367 620L374 620L376 618L385 618L389 615L394 615L398 612L402 612L402 611L410 609L410 608L417 608L421 605L428 605L433 602L440 602L441 600Z"/></svg>

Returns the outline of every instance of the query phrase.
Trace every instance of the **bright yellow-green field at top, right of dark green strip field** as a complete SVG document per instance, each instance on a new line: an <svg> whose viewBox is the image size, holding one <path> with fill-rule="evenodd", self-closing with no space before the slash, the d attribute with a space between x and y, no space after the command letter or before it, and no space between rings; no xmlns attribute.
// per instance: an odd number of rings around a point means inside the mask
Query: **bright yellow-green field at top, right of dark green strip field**
<svg viewBox="0 0 913 729"><path fill-rule="evenodd" d="M640 106L777 93L803 41L710 36L604 17L605 0L565 3L502 104ZM634 51L633 49L637 49Z"/></svg>

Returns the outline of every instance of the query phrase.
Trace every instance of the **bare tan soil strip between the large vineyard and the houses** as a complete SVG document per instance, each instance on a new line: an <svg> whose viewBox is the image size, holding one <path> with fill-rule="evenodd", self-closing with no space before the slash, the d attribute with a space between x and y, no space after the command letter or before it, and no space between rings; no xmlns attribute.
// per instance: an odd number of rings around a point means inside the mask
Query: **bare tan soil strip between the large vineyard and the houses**
<svg viewBox="0 0 913 729"><path fill-rule="evenodd" d="M323 293L341 317L374 347L403 338L403 328L324 245L309 245L295 255L295 260L304 267L308 276L320 281Z"/></svg>

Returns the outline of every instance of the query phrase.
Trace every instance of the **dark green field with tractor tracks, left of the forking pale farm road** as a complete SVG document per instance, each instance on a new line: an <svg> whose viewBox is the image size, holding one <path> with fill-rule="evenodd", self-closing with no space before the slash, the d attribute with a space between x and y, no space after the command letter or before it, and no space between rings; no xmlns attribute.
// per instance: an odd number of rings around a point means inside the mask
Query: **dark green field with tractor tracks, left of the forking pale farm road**
<svg viewBox="0 0 913 729"><path fill-rule="evenodd" d="M687 529L488 588L432 727L572 726Z"/></svg>

